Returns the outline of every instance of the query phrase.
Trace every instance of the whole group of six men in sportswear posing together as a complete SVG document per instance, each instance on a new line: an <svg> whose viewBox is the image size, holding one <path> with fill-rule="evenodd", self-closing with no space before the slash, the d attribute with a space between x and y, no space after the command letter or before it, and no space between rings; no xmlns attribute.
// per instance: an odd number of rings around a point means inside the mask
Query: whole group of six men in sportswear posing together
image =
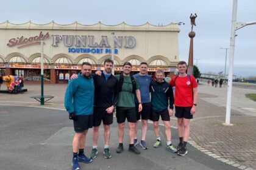
<svg viewBox="0 0 256 170"><path fill-rule="evenodd" d="M159 129L161 116L165 125L165 149L178 155L187 154L187 141L190 133L190 119L196 112L197 83L193 76L187 75L187 64L178 64L179 76L170 83L164 78L163 70L157 70L155 81L148 75L148 64L140 64L140 73L131 75L132 64L124 63L121 75L112 75L113 61L104 61L104 70L91 74L91 64L83 63L81 72L73 75L65 94L65 107L69 119L74 122L73 169L80 169L79 161L90 163L98 154L99 126L104 124L104 157L111 158L109 149L110 124L113 123L113 111L116 109L118 123L117 153L124 150L124 126L127 119L129 126L129 151L140 154L135 147L138 143L143 149L146 144L148 120L153 121L156 142L154 148L162 145ZM172 87L176 87L175 97ZM178 120L180 143L177 149L171 143L170 117L175 105ZM141 120L141 140L137 139L138 121ZM93 127L93 148L89 157L84 154L85 138L88 129Z"/></svg>

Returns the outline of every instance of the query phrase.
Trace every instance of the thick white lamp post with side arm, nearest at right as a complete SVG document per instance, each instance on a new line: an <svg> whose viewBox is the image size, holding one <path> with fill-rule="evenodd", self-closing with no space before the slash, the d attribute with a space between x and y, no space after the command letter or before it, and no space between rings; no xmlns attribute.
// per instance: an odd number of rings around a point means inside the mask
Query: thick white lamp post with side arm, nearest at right
<svg viewBox="0 0 256 170"><path fill-rule="evenodd" d="M225 125L230 124L230 110L231 110L231 100L232 100L232 83L233 83L233 58L235 52L235 31L241 29L246 25L256 24L254 22L236 22L236 12L237 12L237 0L233 0L233 10L232 10L232 27L231 27L231 38L230 38L230 53L229 53L229 80L227 83L227 107L226 107L226 121Z"/></svg>

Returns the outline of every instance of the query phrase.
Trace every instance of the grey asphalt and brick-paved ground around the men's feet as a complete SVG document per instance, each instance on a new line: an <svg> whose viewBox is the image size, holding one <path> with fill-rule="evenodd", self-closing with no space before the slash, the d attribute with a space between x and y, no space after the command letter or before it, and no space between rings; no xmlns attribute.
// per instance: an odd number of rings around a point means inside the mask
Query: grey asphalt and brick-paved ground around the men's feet
<svg viewBox="0 0 256 170"><path fill-rule="evenodd" d="M66 84L44 84L44 94L54 96L44 106L30 98L40 95L40 84L25 84L25 87L28 89L25 94L0 94L0 169L70 169L74 133L63 106ZM256 90L233 87L230 119L233 126L224 126L227 87L199 84L197 112L191 121L189 153L185 157L165 151L164 146L153 148L155 136L151 124L148 150L137 146L140 155L128 152L126 129L125 151L116 154L114 120L110 144L113 157L110 160L103 157L101 129L99 155L91 164L82 165L82 169L256 169L256 104L244 96L246 93ZM179 142L176 121L171 118L174 146ZM161 133L165 141L163 127ZM91 131L86 145L89 154Z"/></svg>

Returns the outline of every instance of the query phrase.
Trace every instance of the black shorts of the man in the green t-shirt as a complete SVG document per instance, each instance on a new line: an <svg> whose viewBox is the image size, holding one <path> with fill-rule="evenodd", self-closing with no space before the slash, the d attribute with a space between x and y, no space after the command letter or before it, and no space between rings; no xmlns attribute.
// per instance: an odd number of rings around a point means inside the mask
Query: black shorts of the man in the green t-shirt
<svg viewBox="0 0 256 170"><path fill-rule="evenodd" d="M130 123L136 123L136 110L135 107L116 107L116 120L118 123L124 123L124 121Z"/></svg>

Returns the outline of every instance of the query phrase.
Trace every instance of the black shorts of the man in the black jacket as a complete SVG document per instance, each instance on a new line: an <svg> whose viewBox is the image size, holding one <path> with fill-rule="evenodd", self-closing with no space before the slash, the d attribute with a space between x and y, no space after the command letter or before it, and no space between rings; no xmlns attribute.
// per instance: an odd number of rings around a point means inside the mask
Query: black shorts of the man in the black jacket
<svg viewBox="0 0 256 170"><path fill-rule="evenodd" d="M103 124L110 125L113 123L113 112L108 114L105 107L93 107L93 126L100 126Z"/></svg>

